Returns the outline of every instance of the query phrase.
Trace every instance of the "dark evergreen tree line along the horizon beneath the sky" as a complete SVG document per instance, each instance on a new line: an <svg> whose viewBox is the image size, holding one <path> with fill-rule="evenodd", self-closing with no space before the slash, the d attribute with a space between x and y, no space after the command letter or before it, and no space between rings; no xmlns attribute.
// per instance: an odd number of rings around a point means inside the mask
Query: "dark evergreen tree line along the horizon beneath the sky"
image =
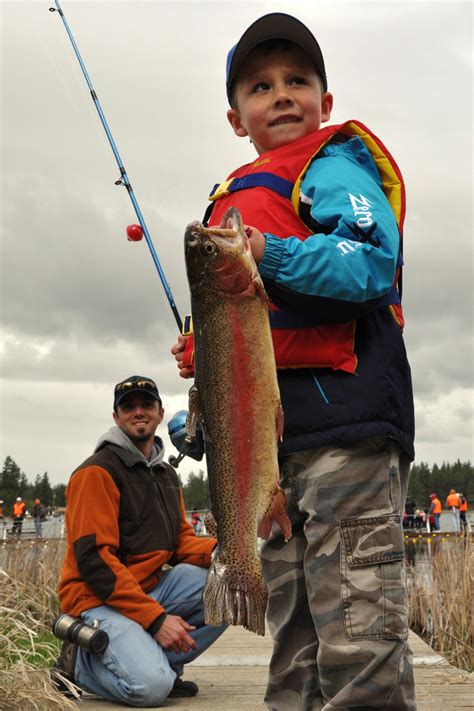
<svg viewBox="0 0 474 711"><path fill-rule="evenodd" d="M454 464L443 462L441 466L434 464L431 468L425 462L413 464L410 470L408 497L419 508L426 508L429 506L430 494L435 493L444 505L449 490L455 489L464 494L472 507L474 505L473 475L474 467L471 462L461 462L459 459ZM191 472L186 483L183 483L181 478L180 481L184 505L188 511L193 508L198 511L211 508L209 482L202 469L197 474ZM35 499L41 499L41 503L47 507L65 506L65 489L65 484L52 486L47 472L42 475L37 474L33 483L30 483L26 474L11 457L5 459L0 473L0 499L4 501L5 513L11 511L17 496L24 499L28 508L31 508Z"/></svg>

